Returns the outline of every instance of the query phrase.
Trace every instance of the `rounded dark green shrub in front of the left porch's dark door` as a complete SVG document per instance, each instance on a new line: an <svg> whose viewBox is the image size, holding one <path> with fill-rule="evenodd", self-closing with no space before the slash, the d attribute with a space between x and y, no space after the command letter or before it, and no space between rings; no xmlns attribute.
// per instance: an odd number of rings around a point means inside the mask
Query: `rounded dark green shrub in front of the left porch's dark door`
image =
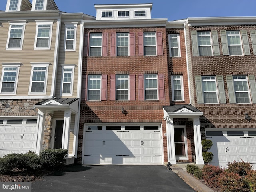
<svg viewBox="0 0 256 192"><path fill-rule="evenodd" d="M46 170L58 170L64 166L66 149L46 149L40 153L42 167Z"/></svg>

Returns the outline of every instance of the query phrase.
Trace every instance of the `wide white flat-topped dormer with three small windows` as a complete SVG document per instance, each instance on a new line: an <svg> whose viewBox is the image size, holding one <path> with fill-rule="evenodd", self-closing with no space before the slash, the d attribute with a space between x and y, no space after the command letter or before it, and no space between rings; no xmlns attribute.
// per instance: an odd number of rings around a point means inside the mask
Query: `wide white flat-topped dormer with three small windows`
<svg viewBox="0 0 256 192"><path fill-rule="evenodd" d="M152 3L94 5L96 20L151 19Z"/></svg>

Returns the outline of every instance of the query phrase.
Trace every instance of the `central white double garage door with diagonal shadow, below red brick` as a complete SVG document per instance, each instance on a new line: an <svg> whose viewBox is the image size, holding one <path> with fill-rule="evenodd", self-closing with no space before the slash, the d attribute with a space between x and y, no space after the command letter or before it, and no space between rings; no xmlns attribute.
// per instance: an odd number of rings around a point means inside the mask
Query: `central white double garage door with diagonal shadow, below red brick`
<svg viewBox="0 0 256 192"><path fill-rule="evenodd" d="M160 126L88 126L84 164L162 164Z"/></svg>

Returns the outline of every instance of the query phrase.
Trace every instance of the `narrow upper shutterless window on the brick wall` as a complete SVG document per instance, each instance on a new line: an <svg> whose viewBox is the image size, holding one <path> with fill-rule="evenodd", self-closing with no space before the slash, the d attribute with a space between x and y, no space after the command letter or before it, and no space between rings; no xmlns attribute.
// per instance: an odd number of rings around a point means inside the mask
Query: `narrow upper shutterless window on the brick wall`
<svg viewBox="0 0 256 192"><path fill-rule="evenodd" d="M169 34L170 57L180 57L180 34Z"/></svg>

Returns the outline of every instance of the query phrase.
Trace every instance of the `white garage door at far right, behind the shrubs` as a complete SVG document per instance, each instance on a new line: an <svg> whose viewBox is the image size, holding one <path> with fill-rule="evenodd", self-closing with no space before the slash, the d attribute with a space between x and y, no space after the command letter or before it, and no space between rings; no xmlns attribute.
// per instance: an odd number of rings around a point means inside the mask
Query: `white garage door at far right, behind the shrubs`
<svg viewBox="0 0 256 192"><path fill-rule="evenodd" d="M256 130L206 130L206 139L213 142L211 164L226 168L228 162L243 160L256 169Z"/></svg>

